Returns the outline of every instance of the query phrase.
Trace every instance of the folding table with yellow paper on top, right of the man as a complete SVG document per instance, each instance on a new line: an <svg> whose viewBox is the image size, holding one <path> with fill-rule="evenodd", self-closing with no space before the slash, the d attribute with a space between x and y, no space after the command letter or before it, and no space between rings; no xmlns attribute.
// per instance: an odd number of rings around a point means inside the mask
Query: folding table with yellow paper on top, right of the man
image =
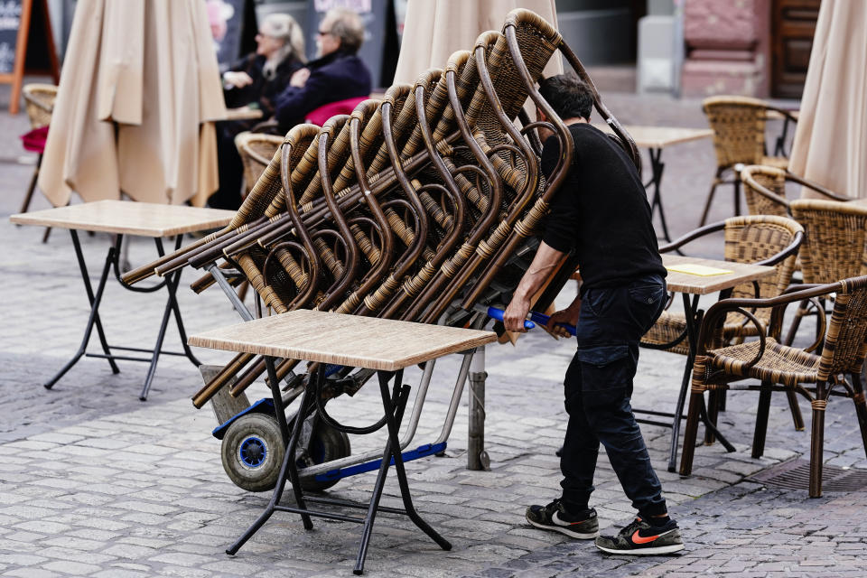
<svg viewBox="0 0 867 578"><path fill-rule="evenodd" d="M683 295L684 299L684 316L686 322L686 343L689 347L689 352L686 355L686 364L684 368L684 378L680 384L680 391L677 395L677 403L675 413L657 412L641 409L633 409L637 414L657 415L662 417L671 417L671 424L666 422L652 421L648 419L638 419L637 421L643 424L662 425L670 427L671 444L668 453L668 471L676 471L677 461L677 436L680 433L680 420L684 419L683 411L686 400L686 391L689 388L690 376L693 372L693 361L695 361L696 340L698 339L697 328L701 325L703 311L698 308L698 299L701 295L720 292L720 299L725 299L732 294L732 289L736 285L758 281L768 275L774 275L776 270L774 267L753 265L750 263L737 263L734 261L719 261L716 259L703 259L693 256L678 256L678 255L663 255L663 265L668 269L666 283L668 291ZM672 271L671 267L687 265L697 265L711 267L717 270L729 271L720 275L694 275L690 273L681 273ZM692 295L692 299L690 299ZM728 443L722 434L720 434L713 421L707 415L706 409L702 412L702 421L708 431L719 438L727 450L734 451L731 443Z"/></svg>

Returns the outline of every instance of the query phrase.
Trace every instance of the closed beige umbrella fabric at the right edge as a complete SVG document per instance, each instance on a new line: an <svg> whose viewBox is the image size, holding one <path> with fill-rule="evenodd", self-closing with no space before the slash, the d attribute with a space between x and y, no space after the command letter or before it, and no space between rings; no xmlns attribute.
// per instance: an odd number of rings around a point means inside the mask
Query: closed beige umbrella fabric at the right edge
<svg viewBox="0 0 867 578"><path fill-rule="evenodd" d="M822 1L788 168L867 197L867 2Z"/></svg>

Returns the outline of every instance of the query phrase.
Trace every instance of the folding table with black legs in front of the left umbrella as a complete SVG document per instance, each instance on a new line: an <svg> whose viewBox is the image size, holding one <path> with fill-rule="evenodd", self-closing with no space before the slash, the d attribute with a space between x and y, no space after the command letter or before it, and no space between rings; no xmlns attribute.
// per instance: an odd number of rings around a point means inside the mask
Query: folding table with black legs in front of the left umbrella
<svg viewBox="0 0 867 578"><path fill-rule="evenodd" d="M234 217L235 211L231 210L216 210L216 209L200 209L196 207L187 207L180 205L163 205L154 203L134 202L126 200L98 200L95 202L87 202L77 205L68 205L66 207L58 207L56 209L37 210L29 213L13 215L9 218L14 223L21 225L39 225L45 227L68 228L72 236L72 247L75 247L75 256L79 261L79 271L81 272L81 280L84 282L85 291L88 294L90 303L90 314L84 331L84 338L81 340L79 350L72 356L72 359L61 368L57 374L45 382L44 386L48 389L54 386L63 375L74 366L82 356L104 358L108 360L113 373L118 373L117 359L125 361L144 361L150 363L147 370L147 376L144 378L144 385L139 399L144 401L147 399L148 390L151 387L151 382L154 379L156 371L156 363L161 354L166 355L183 355L198 367L200 362L192 354L190 347L186 343L186 333L183 330L183 322L181 319L181 310L178 307L175 293L178 284L181 282L181 271L167 276L163 281L154 284L150 287L133 287L125 284L120 278L120 247L124 235L132 235L137 237L154 238L157 253L163 256L163 237L175 236L175 249L181 247L183 233L191 233L194 231L205 230L209 228L224 227L228 221ZM81 244L79 242L79 230L84 231L100 231L106 233L114 233L117 238L111 247L108 247L105 266L102 267L102 273L99 276L97 291L94 293L93 287L90 284L88 268L84 261L84 255L81 252ZM105 331L102 327L102 322L99 319L99 303L102 301L103 292L106 288L108 272L114 268L117 282L126 287L130 291L137 293L154 293L165 287L168 297L163 309L163 321L160 325L160 330L157 336L156 344L153 349L142 349L135 347L121 347L117 345L109 345L106 339ZM183 352L163 351L163 338L165 330L169 323L169 317L174 313L174 320L177 323L178 332L181 334ZM99 343L102 346L102 353L87 353L87 347L90 340L90 335L93 328L96 326L99 336ZM129 357L116 355L112 350L120 351L135 351L140 353L150 354L148 357Z"/></svg>

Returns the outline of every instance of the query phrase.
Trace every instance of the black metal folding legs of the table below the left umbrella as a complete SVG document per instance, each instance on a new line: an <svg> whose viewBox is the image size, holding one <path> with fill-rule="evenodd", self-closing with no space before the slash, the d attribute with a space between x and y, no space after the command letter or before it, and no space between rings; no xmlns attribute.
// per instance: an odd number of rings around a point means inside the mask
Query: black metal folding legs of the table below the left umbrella
<svg viewBox="0 0 867 578"><path fill-rule="evenodd" d="M139 394L138 398L142 401L147 399L148 392L150 391L151 384L154 381L154 374L156 373L156 365L160 359L160 355L176 355L176 356L184 356L187 359L190 359L191 363L199 367L201 365L199 359L196 359L196 356L193 355L190 346L187 345L187 335L186 331L183 328L183 320L181 317L181 308L178 305L177 301L177 289L178 285L181 283L181 270L172 273L172 275L168 275L158 284L154 284L149 287L135 287L129 284L124 283L120 277L120 254L121 254L121 244L123 243L123 235L117 234L114 244L111 247L108 247L108 252L106 256L105 265L102 267L102 272L99 275L99 283L97 285L97 291L94 293L93 286L90 284L90 277L88 275L88 266L84 259L84 254L81 251L81 243L79 241L78 231L74 228L70 228L70 235L72 236L72 246L75 247L75 256L79 262L79 271L81 273L81 280L84 283L85 291L88 294L88 301L90 303L90 313L88 316L88 322L85 325L84 337L81 340L81 344L79 345L79 350L75 352L72 358L66 362L66 364L56 373L54 376L46 381L43 386L46 389L51 389L65 374L70 370L76 363L79 362L79 359L82 357L92 357L92 358L102 358L108 360L108 365L111 367L112 373L119 373L120 369L117 367L116 360L123 361L140 361L149 363L150 366L147 369L147 374L144 378L144 384L142 385L142 391ZM181 247L183 235L179 234L175 237L174 248L177 250ZM154 237L154 242L156 244L156 250L159 256L165 255L165 251L163 250L163 239ZM126 347L119 345L109 345L106 332L103 329L102 321L99 319L99 304L102 303L102 296L104 294L109 271L114 268L115 277L117 278L117 283L121 284L124 288L129 291L134 291L136 293L154 293L159 291L163 287L165 287L168 292L168 297L166 298L165 306L163 307L163 320L160 323L160 331L157 334L156 343L154 344L154 348L147 350L143 348L134 348L134 347ZM174 320L178 328L178 333L181 336L182 343L182 352L176 351L165 351L163 350L163 340L165 338L165 331L168 328L169 317L174 314ZM96 326L97 334L99 338L99 344L102 347L102 353L89 353L87 351L90 337L93 334L93 328ZM139 353L150 353L150 357L141 358L141 357L130 357L126 355L116 355L113 353L113 350L120 351L134 351Z"/></svg>

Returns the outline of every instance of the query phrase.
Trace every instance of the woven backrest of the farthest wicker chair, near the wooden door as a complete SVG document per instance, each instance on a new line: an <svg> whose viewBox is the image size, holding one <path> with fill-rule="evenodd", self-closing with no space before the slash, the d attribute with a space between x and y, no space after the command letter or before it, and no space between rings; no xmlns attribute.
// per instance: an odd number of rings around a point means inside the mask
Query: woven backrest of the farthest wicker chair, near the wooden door
<svg viewBox="0 0 867 578"><path fill-rule="evenodd" d="M736 163L759 164L765 151L767 105L757 98L705 98L702 109L713 129L719 168Z"/></svg>

